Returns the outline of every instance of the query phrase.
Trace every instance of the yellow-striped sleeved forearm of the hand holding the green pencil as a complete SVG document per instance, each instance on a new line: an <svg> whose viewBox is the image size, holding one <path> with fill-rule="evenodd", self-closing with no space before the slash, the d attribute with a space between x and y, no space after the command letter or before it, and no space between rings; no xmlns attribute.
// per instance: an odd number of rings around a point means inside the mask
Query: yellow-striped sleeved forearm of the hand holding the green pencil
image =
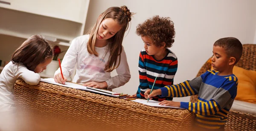
<svg viewBox="0 0 256 131"><path fill-rule="evenodd" d="M188 81L176 85L168 85L160 89L162 90L161 97L186 97L196 94Z"/></svg>

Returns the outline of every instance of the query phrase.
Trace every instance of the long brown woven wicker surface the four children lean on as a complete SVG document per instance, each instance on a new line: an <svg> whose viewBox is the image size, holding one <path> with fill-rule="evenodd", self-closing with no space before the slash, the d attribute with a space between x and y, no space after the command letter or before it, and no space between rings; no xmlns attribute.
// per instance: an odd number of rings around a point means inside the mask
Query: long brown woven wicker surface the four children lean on
<svg viewBox="0 0 256 131"><path fill-rule="evenodd" d="M31 86L19 79L14 92L18 109L35 120L48 120L40 122L48 126L62 120L86 131L190 131L195 118L185 109L151 107L44 82ZM50 130L46 124L41 126Z"/></svg>

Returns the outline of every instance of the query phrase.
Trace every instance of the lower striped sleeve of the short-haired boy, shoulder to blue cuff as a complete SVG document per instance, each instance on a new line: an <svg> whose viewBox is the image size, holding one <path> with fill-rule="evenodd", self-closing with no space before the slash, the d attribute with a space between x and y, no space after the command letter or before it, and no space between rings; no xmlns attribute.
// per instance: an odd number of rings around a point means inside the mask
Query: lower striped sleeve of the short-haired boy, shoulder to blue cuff
<svg viewBox="0 0 256 131"><path fill-rule="evenodd" d="M216 92L216 95L209 101L200 100L199 98L198 103L181 102L180 107L200 115L216 114L227 106L226 103L230 103L235 99L237 84L238 81L235 76L227 77L227 81L225 81L223 86Z"/></svg>

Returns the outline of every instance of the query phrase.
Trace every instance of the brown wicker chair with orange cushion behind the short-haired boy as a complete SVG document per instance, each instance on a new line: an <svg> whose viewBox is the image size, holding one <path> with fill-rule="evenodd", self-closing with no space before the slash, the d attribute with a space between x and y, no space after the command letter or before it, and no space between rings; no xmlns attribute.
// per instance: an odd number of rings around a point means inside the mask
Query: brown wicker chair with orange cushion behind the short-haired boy
<svg viewBox="0 0 256 131"><path fill-rule="evenodd" d="M256 70L256 45L243 45L243 55L236 66L246 70ZM209 69L211 69L211 63L208 60L199 70L197 77ZM190 101L193 103L196 103L197 100L198 95L190 97ZM225 131L256 131L256 115L231 109L227 115Z"/></svg>

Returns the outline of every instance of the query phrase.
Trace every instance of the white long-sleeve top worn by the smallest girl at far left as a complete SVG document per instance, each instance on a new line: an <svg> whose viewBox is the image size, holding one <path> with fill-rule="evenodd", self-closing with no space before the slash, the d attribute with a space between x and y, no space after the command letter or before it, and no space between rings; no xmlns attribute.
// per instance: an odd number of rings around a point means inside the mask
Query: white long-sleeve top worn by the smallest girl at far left
<svg viewBox="0 0 256 131"><path fill-rule="evenodd" d="M15 109L13 100L13 86L17 78L22 78L27 84L36 85L41 77L38 73L28 70L22 63L10 61L0 74L0 112Z"/></svg>

